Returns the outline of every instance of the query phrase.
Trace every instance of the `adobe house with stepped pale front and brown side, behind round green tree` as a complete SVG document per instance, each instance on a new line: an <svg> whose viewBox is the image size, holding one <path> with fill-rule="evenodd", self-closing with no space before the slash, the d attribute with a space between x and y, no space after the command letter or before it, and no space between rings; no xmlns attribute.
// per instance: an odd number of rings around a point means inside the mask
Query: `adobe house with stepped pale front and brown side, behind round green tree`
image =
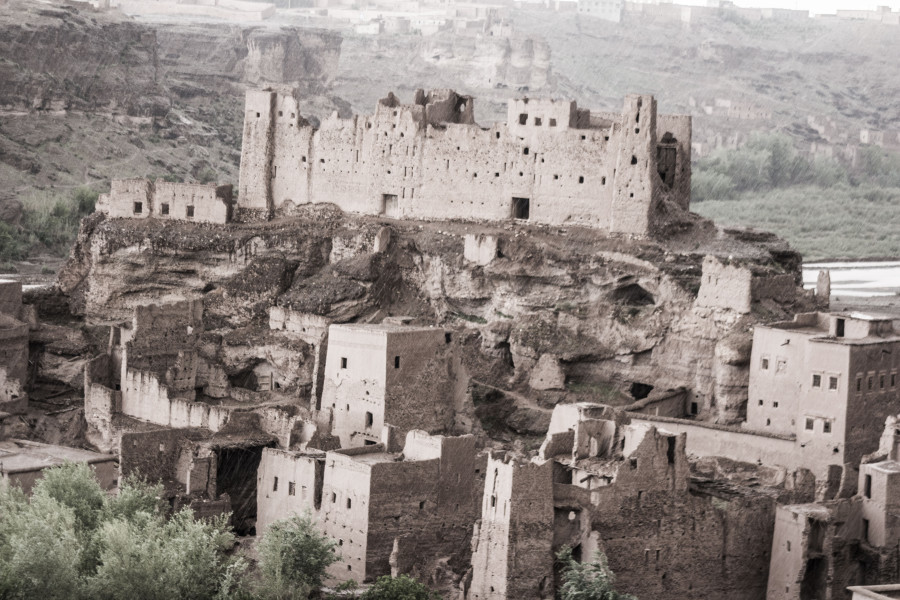
<svg viewBox="0 0 900 600"><path fill-rule="evenodd" d="M257 480L257 531L309 512L338 544L338 581L412 573L469 560L484 460L475 438L410 431L384 443L329 452L265 449ZM394 447L396 446L396 447ZM401 452L402 450L402 452Z"/></svg>

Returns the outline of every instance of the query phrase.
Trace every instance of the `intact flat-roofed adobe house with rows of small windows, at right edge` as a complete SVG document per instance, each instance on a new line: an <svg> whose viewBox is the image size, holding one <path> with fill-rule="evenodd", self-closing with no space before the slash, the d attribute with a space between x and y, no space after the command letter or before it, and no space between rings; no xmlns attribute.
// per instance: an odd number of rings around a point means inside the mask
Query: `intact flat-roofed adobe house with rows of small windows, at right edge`
<svg viewBox="0 0 900 600"><path fill-rule="evenodd" d="M757 325L744 427L794 436L834 465L858 464L897 412L898 371L889 317L816 312Z"/></svg>

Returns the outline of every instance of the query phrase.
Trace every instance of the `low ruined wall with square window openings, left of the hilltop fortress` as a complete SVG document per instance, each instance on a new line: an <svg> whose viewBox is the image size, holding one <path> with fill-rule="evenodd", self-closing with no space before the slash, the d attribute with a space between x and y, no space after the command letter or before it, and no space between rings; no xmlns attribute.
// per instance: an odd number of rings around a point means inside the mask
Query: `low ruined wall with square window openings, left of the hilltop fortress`
<svg viewBox="0 0 900 600"><path fill-rule="evenodd" d="M232 196L231 185L114 179L110 193L101 194L97 210L122 219L225 224L231 222Z"/></svg>

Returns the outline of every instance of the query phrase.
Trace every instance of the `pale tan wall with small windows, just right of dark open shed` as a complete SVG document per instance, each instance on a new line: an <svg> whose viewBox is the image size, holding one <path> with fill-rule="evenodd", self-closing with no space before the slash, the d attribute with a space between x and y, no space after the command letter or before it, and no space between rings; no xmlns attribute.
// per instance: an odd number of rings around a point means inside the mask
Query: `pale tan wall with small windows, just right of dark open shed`
<svg viewBox="0 0 900 600"><path fill-rule="evenodd" d="M278 489L275 489L276 477ZM322 490L322 468L314 457L264 448L256 479L257 536L265 535L273 521L306 512L314 514L318 510L317 490Z"/></svg>

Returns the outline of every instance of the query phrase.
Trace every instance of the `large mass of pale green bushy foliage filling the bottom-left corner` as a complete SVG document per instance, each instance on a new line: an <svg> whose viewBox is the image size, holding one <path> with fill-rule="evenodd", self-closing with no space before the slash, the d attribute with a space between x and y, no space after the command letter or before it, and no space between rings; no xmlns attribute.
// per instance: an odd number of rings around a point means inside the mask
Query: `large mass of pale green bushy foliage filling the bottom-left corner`
<svg viewBox="0 0 900 600"><path fill-rule="evenodd" d="M90 467L44 471L31 499L0 488L0 598L233 600L246 570L228 518L171 519L162 489L126 478L107 495Z"/></svg>

